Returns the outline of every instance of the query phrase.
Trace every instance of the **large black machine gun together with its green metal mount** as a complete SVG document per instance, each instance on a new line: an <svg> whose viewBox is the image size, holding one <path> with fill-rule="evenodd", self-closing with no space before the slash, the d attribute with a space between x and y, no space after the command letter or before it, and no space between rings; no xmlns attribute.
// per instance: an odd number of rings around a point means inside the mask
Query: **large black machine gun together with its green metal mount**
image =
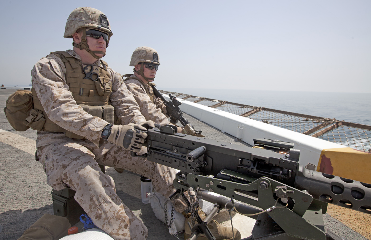
<svg viewBox="0 0 371 240"><path fill-rule="evenodd" d="M170 126L147 133L147 160L180 170L171 199L202 188L266 209L263 213L196 191L197 198L215 207L204 221L197 217L190 239L201 233L215 239L207 223L220 208L257 219L249 240L343 239L324 227L328 203L371 213L371 184L305 169L299 164L300 150L291 143L254 139L257 145L250 148L174 133Z"/></svg>

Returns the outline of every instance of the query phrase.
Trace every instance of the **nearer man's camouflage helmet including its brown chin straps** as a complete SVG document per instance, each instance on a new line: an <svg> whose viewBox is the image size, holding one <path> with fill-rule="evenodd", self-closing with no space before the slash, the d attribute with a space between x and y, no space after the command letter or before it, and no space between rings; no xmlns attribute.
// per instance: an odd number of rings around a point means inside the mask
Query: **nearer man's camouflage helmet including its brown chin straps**
<svg viewBox="0 0 371 240"><path fill-rule="evenodd" d="M73 42L72 45L81 50L85 49L86 52L90 53L96 59L101 57L96 56L95 53L105 55L105 53L102 51L92 51L89 49L88 42L86 40L86 29L98 29L99 31L106 32L108 34L106 46L108 47L109 39L113 33L106 15L97 9L93 9L92 7L78 7L69 15L63 37L73 38L72 34L80 28L82 28L81 42L79 44Z"/></svg>

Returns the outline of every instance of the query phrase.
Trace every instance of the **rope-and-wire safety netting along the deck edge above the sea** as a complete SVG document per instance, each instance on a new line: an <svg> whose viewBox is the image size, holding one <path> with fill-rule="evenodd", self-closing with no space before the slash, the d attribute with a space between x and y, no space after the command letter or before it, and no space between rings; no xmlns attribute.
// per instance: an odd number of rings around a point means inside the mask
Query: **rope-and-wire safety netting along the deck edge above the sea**
<svg viewBox="0 0 371 240"><path fill-rule="evenodd" d="M361 151L371 152L371 126L338 121L293 112L285 112L264 107L255 107L217 99L201 98L183 93L161 91L164 94L172 93L177 98L209 106L221 111L244 116L256 121L265 122L281 128L289 129L302 134L311 135L330 142L351 147Z"/></svg>

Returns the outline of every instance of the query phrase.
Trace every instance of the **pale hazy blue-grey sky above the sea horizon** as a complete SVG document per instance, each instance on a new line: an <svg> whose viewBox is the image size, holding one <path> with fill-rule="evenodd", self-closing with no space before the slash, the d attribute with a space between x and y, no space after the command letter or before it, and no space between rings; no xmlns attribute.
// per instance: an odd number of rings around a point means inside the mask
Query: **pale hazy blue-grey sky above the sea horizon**
<svg viewBox="0 0 371 240"><path fill-rule="evenodd" d="M9 1L0 3L0 84L28 85L76 7L101 10L112 36L103 58L131 73L139 46L157 50L165 88L371 92L371 1Z"/></svg>

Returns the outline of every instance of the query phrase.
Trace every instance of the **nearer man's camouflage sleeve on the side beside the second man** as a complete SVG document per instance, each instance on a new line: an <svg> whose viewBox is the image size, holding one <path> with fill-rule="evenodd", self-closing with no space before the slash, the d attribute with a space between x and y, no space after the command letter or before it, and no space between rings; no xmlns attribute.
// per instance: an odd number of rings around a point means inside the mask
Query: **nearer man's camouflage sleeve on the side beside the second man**
<svg viewBox="0 0 371 240"><path fill-rule="evenodd" d="M142 116L134 96L128 91L121 75L112 69L110 71L113 80L109 101L114 106L116 115L121 119L121 124L135 123L141 125L146 120Z"/></svg>

